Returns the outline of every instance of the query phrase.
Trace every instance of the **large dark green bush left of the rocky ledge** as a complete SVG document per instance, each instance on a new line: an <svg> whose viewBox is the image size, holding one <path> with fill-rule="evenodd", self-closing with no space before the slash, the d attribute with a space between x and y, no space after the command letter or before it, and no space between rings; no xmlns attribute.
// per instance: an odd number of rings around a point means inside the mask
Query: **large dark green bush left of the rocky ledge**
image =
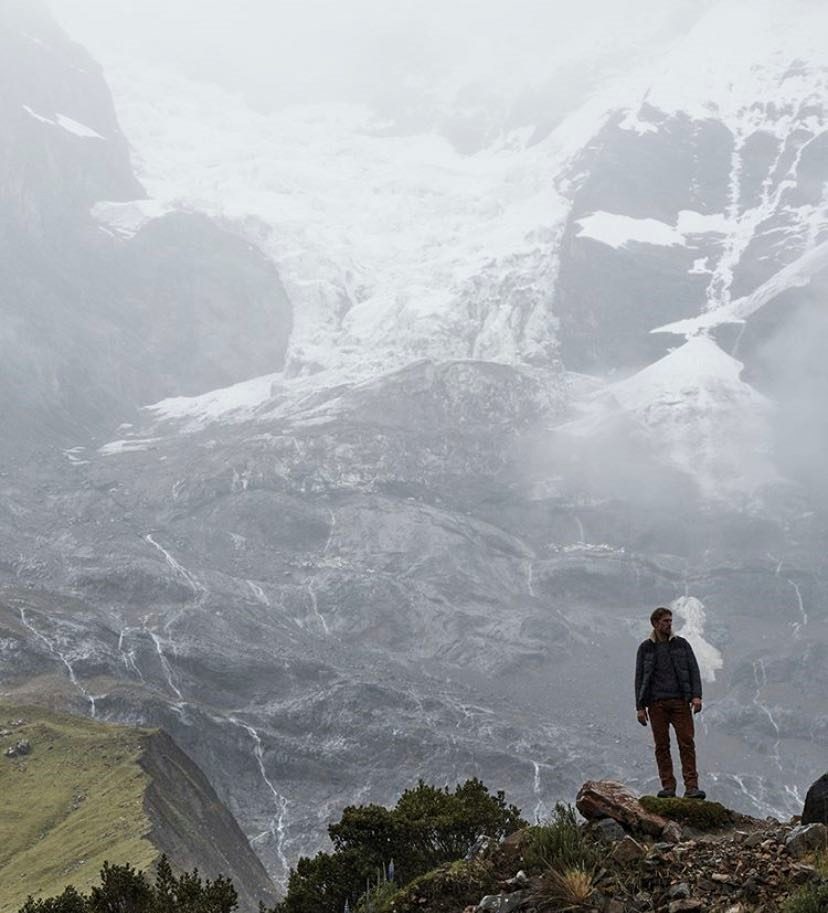
<svg viewBox="0 0 828 913"><path fill-rule="evenodd" d="M299 860L285 898L273 913L342 913L365 893L377 870L392 860L406 885L442 863L462 857L480 834L498 839L525 825L504 794L491 795L476 778L454 791L420 780L397 805L349 806L328 828L334 849Z"/></svg>

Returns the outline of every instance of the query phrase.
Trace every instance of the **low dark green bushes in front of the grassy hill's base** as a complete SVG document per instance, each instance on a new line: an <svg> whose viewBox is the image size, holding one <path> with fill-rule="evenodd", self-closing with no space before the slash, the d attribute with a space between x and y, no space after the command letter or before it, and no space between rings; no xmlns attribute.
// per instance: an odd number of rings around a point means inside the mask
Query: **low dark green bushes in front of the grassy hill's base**
<svg viewBox="0 0 828 913"><path fill-rule="evenodd" d="M232 913L236 906L236 889L227 878L202 881L198 869L176 876L162 856L154 884L129 864L105 862L100 885L88 895L70 885L58 897L30 897L20 913Z"/></svg>

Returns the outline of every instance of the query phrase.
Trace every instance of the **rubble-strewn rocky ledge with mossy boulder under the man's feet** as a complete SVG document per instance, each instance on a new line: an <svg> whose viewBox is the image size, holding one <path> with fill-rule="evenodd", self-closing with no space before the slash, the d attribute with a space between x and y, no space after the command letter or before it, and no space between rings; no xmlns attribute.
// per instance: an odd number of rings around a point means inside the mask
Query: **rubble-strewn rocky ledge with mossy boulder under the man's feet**
<svg viewBox="0 0 828 913"><path fill-rule="evenodd" d="M828 827L636 797L591 781L577 806L399 892L393 913L787 913L828 910ZM794 902L794 898L798 898ZM803 906L807 898L809 904ZM793 905L792 905L793 904Z"/></svg>

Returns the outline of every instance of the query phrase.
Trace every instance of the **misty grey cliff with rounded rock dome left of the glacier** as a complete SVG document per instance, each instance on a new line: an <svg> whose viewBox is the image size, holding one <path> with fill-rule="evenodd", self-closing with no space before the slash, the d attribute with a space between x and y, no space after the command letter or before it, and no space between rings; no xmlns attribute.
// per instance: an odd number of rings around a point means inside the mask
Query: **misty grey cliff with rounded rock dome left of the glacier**
<svg viewBox="0 0 828 913"><path fill-rule="evenodd" d="M0 15L6 444L11 431L18 447L77 437L158 396L278 368L291 311L273 267L197 214L131 242L102 230L95 204L140 211L145 193L100 67L40 4Z"/></svg>

